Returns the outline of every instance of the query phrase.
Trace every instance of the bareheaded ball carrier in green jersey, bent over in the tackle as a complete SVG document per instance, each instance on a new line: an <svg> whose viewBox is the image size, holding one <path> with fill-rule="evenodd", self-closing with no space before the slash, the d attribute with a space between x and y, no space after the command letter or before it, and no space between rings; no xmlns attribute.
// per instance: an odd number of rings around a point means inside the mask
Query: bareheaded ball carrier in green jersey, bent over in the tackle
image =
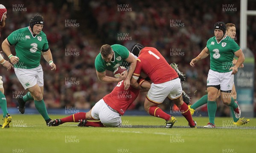
<svg viewBox="0 0 256 153"><path fill-rule="evenodd" d="M96 74L101 82L111 83L124 81L125 90L131 84L131 76L136 67L136 57L122 45L102 45L100 53L95 59ZM106 70L114 71L117 67L124 66L129 69L128 74L120 75L119 78L106 76Z"/></svg>

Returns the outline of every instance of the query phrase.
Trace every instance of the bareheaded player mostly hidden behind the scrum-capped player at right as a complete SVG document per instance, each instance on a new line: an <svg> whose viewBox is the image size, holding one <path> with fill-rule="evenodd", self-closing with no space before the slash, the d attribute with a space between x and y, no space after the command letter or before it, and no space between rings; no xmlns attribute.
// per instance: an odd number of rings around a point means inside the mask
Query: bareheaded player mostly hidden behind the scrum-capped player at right
<svg viewBox="0 0 256 153"><path fill-rule="evenodd" d="M236 37L236 26L233 24L233 23L227 23L226 24L226 34L227 36L231 37L233 40L235 39ZM233 64L235 65L237 62L236 59L233 59ZM244 67L243 64L241 64L240 66L241 68ZM217 95L217 98L220 97L221 95L221 91L219 90L218 91L218 95ZM232 87L232 91L231 91L231 96L233 97L233 99L236 101L236 87L235 87L235 84L233 84L233 87ZM189 105L189 111L191 113L191 115L194 114L195 112L195 109L197 109L198 107L204 105L204 104L207 104L207 94L202 96L201 99L199 99L197 102L195 102L193 105ZM247 124L248 122L250 122L250 119L246 119L244 120L244 118L242 119L237 119L236 116L235 116L235 113L233 110L230 110L231 113L232 113L232 116L233 116L233 124L234 125L244 125L244 124Z"/></svg>

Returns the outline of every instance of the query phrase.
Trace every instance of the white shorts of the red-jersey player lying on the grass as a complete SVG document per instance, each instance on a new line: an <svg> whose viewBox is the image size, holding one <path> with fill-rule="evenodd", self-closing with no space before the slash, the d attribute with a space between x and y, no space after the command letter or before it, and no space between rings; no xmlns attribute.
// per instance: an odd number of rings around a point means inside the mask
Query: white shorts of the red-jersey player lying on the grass
<svg viewBox="0 0 256 153"><path fill-rule="evenodd" d="M122 124L121 115L111 111L103 99L93 106L91 116L95 120L100 120L106 127L118 127Z"/></svg>

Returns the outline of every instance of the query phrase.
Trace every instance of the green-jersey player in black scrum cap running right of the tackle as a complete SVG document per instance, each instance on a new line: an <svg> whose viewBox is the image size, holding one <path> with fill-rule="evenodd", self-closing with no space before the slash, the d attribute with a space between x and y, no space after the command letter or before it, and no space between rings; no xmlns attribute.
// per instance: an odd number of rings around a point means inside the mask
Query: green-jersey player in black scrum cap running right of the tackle
<svg viewBox="0 0 256 153"><path fill-rule="evenodd" d="M234 83L233 74L237 73L238 68L244 62L244 54L239 45L237 45L237 43L225 33L225 23L215 23L215 36L207 41L206 47L190 62L191 66L195 66L196 62L210 55L210 70L207 78L207 109L209 123L204 126L207 128L215 127L214 121L217 109L216 98L219 90L221 90L222 102L233 109L237 119L241 116L241 110L237 101L234 101L231 96L231 91ZM238 59L236 64L233 66L234 55L236 55Z"/></svg>

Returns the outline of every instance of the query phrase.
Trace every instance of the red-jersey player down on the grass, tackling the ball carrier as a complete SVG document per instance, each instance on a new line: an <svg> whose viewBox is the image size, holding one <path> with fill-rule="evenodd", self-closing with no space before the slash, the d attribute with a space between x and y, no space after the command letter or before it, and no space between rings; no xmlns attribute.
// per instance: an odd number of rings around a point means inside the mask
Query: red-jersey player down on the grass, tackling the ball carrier
<svg viewBox="0 0 256 153"><path fill-rule="evenodd" d="M138 84L141 87L150 87L150 83L145 81L145 79L139 79ZM130 86L128 90L125 90L124 87L124 80L122 80L118 82L110 94L100 99L89 112L79 112L63 119L54 119L49 122L48 126L58 126L66 122L79 122L78 126L120 126L122 124L121 116L124 115L127 108L134 102L140 93L140 89ZM143 90L148 91L146 88ZM99 120L99 122L91 122L87 120Z"/></svg>

